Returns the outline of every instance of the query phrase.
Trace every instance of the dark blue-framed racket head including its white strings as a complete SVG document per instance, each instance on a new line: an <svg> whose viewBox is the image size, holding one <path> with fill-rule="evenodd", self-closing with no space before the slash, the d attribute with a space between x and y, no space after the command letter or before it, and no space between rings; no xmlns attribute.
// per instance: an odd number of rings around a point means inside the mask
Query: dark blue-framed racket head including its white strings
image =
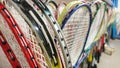
<svg viewBox="0 0 120 68"><path fill-rule="evenodd" d="M91 19L92 16L90 7L88 7L87 4L80 4L73 8L62 22L61 28L67 47L69 48L68 50L73 67L83 52Z"/></svg>

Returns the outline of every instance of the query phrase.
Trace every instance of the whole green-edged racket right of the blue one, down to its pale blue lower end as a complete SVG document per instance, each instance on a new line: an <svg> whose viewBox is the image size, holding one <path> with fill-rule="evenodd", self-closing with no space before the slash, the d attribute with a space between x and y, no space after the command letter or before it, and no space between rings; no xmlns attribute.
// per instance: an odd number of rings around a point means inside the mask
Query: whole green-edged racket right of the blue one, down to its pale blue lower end
<svg viewBox="0 0 120 68"><path fill-rule="evenodd" d="M95 45L94 39L100 28L100 25L101 25L101 22L103 19L103 15L104 15L104 11L105 11L105 3L102 2L95 14L95 17L92 20L92 24L91 24L91 28L89 31L88 39L85 44L84 52L82 53L82 56L78 60L78 65L80 65L81 62L89 55L91 48ZM101 14L101 16L100 16L100 14ZM76 68L78 67L78 65L76 66Z"/></svg>

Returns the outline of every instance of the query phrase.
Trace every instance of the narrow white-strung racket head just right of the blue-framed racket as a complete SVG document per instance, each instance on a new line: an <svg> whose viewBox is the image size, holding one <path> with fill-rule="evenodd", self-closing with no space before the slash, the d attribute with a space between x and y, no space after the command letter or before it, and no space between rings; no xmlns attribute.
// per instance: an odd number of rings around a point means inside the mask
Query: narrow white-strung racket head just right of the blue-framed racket
<svg viewBox="0 0 120 68"><path fill-rule="evenodd" d="M100 7L97 10L97 13L95 15L95 18L92 21L92 25L90 28L90 32L89 32L89 36L88 36L88 40L85 46L85 51L89 51L89 49L93 46L92 43L95 42L95 37L98 33L98 30L101 26L101 22L104 16L104 11L105 11L105 3L101 2L100 3ZM99 20L98 20L99 19Z"/></svg>

